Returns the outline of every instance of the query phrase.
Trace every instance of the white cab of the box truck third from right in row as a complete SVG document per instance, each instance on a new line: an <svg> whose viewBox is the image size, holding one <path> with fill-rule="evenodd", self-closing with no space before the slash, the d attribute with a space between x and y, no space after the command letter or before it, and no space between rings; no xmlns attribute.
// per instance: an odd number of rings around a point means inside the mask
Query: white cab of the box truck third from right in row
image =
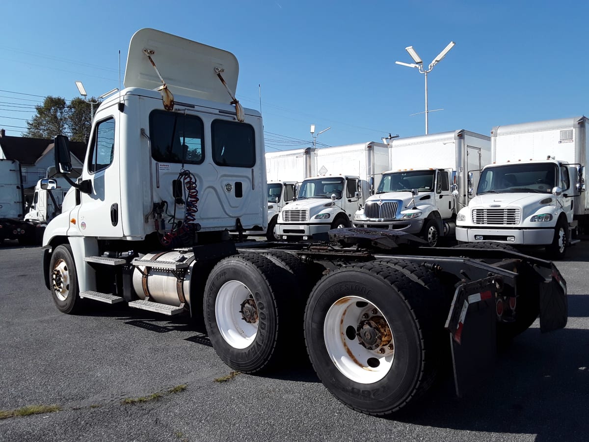
<svg viewBox="0 0 589 442"><path fill-rule="evenodd" d="M276 234L283 240L308 240L316 233L350 227L350 219L368 183L358 176L315 176L300 184L295 202L278 215Z"/></svg>

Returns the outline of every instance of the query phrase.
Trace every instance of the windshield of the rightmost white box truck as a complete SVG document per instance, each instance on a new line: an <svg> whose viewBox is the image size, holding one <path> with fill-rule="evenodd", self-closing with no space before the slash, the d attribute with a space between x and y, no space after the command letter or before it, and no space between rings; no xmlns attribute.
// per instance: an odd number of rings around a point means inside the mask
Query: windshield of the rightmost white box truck
<svg viewBox="0 0 589 442"><path fill-rule="evenodd" d="M506 164L488 167L481 173L477 194L527 192L551 193L556 182L554 163Z"/></svg>

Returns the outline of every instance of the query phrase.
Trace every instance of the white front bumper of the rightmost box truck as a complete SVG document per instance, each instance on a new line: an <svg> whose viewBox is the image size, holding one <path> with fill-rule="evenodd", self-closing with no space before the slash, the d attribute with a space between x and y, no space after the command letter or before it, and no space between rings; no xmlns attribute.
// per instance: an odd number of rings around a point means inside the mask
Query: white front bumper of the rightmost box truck
<svg viewBox="0 0 589 442"><path fill-rule="evenodd" d="M508 240L511 238L512 240ZM497 241L515 245L548 245L554 239L550 229L480 229L456 226L456 240L464 242Z"/></svg>

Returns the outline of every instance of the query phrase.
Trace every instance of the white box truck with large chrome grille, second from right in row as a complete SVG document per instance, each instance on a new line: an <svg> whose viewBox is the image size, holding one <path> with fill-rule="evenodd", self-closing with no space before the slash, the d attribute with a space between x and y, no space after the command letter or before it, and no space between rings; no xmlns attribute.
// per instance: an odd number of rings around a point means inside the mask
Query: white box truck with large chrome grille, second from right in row
<svg viewBox="0 0 589 442"><path fill-rule="evenodd" d="M456 212L468 203L466 177L478 177L490 162L490 138L456 130L394 138L389 147L391 170L355 213L354 226L412 233L432 247L453 238Z"/></svg>

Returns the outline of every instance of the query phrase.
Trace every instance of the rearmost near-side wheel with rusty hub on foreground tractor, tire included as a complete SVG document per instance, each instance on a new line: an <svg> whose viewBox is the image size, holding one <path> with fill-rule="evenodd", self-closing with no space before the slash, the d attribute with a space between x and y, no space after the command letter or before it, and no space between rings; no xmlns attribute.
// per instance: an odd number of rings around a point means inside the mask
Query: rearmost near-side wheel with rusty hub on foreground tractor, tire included
<svg viewBox="0 0 589 442"><path fill-rule="evenodd" d="M428 290L399 269L379 262L344 267L309 297L307 351L338 400L362 413L391 414L434 383L442 316Z"/></svg>

